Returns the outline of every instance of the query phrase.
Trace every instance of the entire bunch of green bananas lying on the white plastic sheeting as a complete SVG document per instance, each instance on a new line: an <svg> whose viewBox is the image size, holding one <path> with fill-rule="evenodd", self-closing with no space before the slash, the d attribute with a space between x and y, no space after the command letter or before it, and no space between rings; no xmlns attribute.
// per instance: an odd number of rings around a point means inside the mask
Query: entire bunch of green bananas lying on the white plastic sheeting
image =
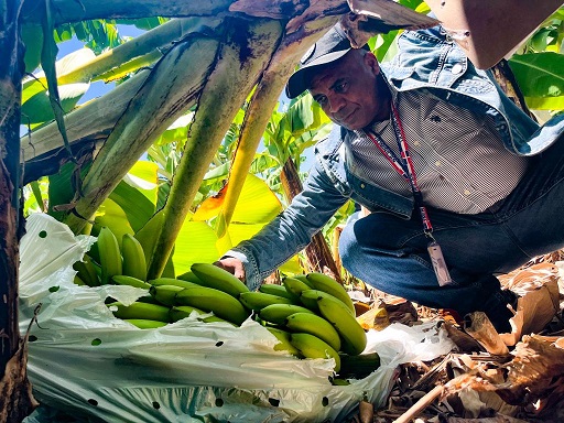
<svg viewBox="0 0 564 423"><path fill-rule="evenodd" d="M282 285L262 284L258 291L249 291L235 275L212 263L194 263L177 278L147 280L143 248L133 236L124 235L120 248L116 236L104 227L97 242L99 262L86 256L75 263L75 281L148 290L148 295L133 304L107 304L116 317L139 328L162 327L194 314L200 322L234 326L251 317L276 337L275 350L300 358L333 358L340 377L378 367L379 362L361 356L367 338L350 296L323 273L286 276Z"/></svg>

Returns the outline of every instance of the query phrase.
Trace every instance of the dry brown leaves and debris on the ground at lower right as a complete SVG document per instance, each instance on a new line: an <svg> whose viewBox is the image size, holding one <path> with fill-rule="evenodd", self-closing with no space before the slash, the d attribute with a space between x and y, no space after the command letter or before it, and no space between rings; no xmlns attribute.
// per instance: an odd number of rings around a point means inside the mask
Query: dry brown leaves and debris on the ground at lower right
<svg viewBox="0 0 564 423"><path fill-rule="evenodd" d="M359 316L368 328L401 322L442 321L455 350L433 362L400 366L384 406L373 422L520 423L564 422L564 253L547 254L500 278L503 286L534 285L560 278L560 312L540 334L524 335L508 355L494 355L464 329L452 311L419 306L372 293ZM416 311L415 318L411 313ZM354 420L354 421L359 421Z"/></svg>

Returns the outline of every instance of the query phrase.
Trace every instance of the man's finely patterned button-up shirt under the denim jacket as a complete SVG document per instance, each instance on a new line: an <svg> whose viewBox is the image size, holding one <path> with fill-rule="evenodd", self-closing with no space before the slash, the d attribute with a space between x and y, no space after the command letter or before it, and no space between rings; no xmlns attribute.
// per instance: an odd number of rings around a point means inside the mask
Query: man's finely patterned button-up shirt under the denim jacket
<svg viewBox="0 0 564 423"><path fill-rule="evenodd" d="M528 159L505 149L490 117L414 91L398 93L397 106L425 205L482 213L506 198L527 171ZM399 156L390 120L371 130ZM362 131L345 142L348 164L361 178L412 196L409 182Z"/></svg>

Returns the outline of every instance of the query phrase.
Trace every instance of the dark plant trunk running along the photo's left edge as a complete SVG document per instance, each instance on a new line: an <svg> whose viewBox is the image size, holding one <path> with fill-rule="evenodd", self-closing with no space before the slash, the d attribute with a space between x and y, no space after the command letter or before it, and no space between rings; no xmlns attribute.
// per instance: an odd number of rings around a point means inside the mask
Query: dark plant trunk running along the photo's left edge
<svg viewBox="0 0 564 423"><path fill-rule="evenodd" d="M36 406L18 323L20 104L24 72L21 1L0 1L0 421L21 422Z"/></svg>

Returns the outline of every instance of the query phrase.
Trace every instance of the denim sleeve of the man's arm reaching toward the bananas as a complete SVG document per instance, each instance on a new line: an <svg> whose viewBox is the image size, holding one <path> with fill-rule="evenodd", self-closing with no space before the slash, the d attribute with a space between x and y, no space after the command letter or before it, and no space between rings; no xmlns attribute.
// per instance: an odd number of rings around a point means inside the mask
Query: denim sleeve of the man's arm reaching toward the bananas
<svg viewBox="0 0 564 423"><path fill-rule="evenodd" d="M224 257L242 261L247 285L253 290L272 271L306 247L347 199L316 160L302 193L294 197L290 206L259 234L240 242Z"/></svg>

